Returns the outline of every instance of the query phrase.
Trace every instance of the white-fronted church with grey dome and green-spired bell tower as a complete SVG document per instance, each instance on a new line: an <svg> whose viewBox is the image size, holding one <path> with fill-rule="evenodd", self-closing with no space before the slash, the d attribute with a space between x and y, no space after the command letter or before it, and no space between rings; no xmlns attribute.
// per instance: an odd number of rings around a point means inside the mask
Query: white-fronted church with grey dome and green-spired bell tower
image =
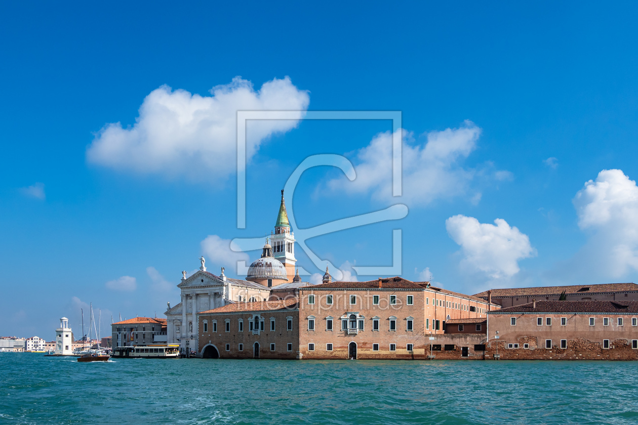
<svg viewBox="0 0 638 425"><path fill-rule="evenodd" d="M206 270L204 257L200 269L190 277L182 271L181 301L174 307L168 304L167 342L179 343L181 350L198 351L197 312L211 310L231 303L284 299L296 295L300 287L311 286L302 282L295 273L295 237L290 229L286 205L281 191L281 205L274 234L262 250L262 256L248 268L246 280L226 277L224 268L219 275ZM292 277L292 278L291 278ZM324 280L330 279L328 271Z"/></svg>

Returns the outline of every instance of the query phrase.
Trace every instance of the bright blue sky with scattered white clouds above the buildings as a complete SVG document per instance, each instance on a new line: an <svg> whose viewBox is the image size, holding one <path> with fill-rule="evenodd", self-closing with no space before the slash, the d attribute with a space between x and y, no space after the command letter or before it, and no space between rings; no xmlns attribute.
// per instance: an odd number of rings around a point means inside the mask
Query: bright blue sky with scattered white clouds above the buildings
<svg viewBox="0 0 638 425"><path fill-rule="evenodd" d="M308 241L347 278L376 278L350 266L390 265L403 229L402 275L456 291L637 280L637 7L2 4L0 334L50 339L91 301L104 326L161 315L202 254L233 274L258 252L227 241L271 231L313 154L345 155L358 180L304 173L299 226L408 206ZM162 102L191 124L170 127ZM248 127L237 229L228 117L293 106L401 111L404 196L381 178L389 121Z"/></svg>

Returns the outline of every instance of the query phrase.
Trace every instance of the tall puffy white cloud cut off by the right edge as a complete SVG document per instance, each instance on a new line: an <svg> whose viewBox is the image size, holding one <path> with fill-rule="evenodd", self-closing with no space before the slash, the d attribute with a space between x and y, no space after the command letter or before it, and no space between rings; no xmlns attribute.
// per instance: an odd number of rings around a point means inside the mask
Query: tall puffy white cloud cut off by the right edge
<svg viewBox="0 0 638 425"><path fill-rule="evenodd" d="M604 169L577 192L578 226L590 239L579 263L621 277L638 270L638 187L620 169Z"/></svg>

